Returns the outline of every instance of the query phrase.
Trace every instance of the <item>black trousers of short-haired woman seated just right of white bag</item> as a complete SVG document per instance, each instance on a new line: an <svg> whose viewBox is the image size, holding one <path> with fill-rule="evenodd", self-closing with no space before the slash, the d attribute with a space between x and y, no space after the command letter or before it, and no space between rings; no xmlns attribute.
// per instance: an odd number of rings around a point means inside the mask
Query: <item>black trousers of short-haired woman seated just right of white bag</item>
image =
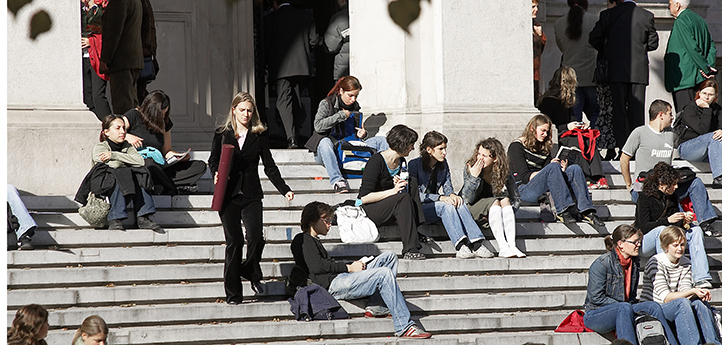
<svg viewBox="0 0 722 345"><path fill-rule="evenodd" d="M411 185L409 185L411 188ZM415 187L418 190L418 187ZM413 189L412 189L413 190ZM365 204L362 206L369 217L377 226L391 225L394 222L399 226L401 242L404 244L402 253L418 253L421 249L419 233L416 231L416 205L409 193L399 193L386 199Z"/></svg>

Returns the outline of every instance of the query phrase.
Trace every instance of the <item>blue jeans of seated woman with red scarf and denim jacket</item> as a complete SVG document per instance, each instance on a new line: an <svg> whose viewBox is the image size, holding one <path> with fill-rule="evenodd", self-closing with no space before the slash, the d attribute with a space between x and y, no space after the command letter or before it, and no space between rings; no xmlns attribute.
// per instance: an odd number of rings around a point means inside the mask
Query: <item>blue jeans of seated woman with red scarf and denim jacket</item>
<svg viewBox="0 0 722 345"><path fill-rule="evenodd" d="M618 302L603 307L587 310L584 313L584 326L598 333L617 331L617 339L626 339L637 345L637 335L634 331L634 313L646 311L656 317L664 327L664 333L671 345L678 345L674 333L664 317L662 307L657 302L647 301L635 304Z"/></svg>

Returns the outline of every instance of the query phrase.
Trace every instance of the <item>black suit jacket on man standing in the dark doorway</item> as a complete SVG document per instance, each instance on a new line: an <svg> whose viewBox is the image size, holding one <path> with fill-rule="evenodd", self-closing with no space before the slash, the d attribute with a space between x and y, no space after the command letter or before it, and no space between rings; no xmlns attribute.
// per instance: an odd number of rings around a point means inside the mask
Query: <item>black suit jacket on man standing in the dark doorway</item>
<svg viewBox="0 0 722 345"><path fill-rule="evenodd" d="M291 5L264 18L268 80L311 75L311 47L320 42L313 16Z"/></svg>

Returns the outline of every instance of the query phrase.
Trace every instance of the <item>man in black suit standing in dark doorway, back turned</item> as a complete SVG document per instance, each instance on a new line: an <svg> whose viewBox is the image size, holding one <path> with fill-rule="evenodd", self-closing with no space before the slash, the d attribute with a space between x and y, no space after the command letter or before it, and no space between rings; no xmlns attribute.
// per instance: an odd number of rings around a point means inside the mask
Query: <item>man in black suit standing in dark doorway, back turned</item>
<svg viewBox="0 0 722 345"><path fill-rule="evenodd" d="M276 108L286 132L288 148L296 148L295 123L304 115L300 85L311 75L311 47L320 43L313 16L279 0L280 5L264 21L268 81L276 86ZM295 105L295 106L294 106ZM295 120L295 121L294 121Z"/></svg>

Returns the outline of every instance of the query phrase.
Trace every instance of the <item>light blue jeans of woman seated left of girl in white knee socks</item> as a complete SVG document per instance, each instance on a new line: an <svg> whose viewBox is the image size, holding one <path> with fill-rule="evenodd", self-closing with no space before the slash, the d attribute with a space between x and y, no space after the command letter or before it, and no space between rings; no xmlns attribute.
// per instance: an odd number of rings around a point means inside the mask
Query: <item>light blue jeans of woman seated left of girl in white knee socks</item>
<svg viewBox="0 0 722 345"><path fill-rule="evenodd" d="M421 207L424 210L427 224L436 223L441 218L446 233L449 234L449 239L454 246L464 238L467 238L470 243L484 239L481 229L474 221L474 216L471 215L466 204L456 207L443 201L434 201L421 204Z"/></svg>

